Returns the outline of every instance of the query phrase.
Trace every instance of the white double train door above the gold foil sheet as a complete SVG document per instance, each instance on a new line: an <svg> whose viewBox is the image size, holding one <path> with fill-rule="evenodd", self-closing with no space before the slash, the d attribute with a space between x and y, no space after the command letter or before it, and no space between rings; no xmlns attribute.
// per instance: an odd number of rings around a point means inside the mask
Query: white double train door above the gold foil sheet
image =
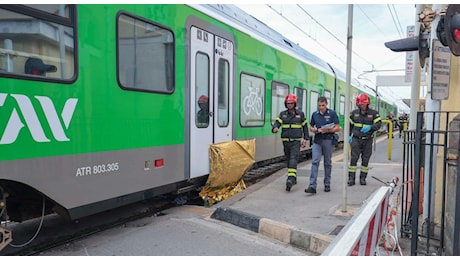
<svg viewBox="0 0 460 260"><path fill-rule="evenodd" d="M190 178L209 173L209 145L232 140L233 44L190 30Z"/></svg>

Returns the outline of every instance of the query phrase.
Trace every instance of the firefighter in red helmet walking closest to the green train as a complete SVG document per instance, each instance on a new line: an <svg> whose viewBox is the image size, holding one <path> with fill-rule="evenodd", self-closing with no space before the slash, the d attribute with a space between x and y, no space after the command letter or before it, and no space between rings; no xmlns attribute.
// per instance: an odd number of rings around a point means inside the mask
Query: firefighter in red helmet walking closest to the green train
<svg viewBox="0 0 460 260"><path fill-rule="evenodd" d="M273 124L272 132L277 133L282 127L281 140L283 141L284 157L288 167L286 180L286 191L291 191L293 185L297 184L297 159L299 158L300 148L307 146L308 123L305 114L298 110L297 97L289 94L284 99L284 106L287 108L281 111Z"/></svg>

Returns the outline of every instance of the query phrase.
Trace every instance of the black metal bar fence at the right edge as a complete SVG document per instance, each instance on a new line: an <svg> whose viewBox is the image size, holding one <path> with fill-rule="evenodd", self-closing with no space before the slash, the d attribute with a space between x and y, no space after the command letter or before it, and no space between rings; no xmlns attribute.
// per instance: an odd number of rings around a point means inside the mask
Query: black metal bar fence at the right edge
<svg viewBox="0 0 460 260"><path fill-rule="evenodd" d="M459 255L460 112L418 112L404 131L401 236L411 255Z"/></svg>

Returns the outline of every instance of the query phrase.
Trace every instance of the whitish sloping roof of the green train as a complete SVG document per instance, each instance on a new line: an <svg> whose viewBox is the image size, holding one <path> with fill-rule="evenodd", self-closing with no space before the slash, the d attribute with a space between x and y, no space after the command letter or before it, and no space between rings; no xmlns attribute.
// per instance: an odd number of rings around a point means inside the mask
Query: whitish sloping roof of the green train
<svg viewBox="0 0 460 260"><path fill-rule="evenodd" d="M235 5L206 4L193 5L193 7L215 18L221 18L221 20L223 20L222 18L227 19L227 21L235 25L234 27L248 35L258 38L261 41L269 42L279 50L285 51L291 56L302 58L306 63L334 75L334 71L326 61L313 55L298 44L293 43L273 28ZM220 17L216 17L216 15L220 15Z"/></svg>

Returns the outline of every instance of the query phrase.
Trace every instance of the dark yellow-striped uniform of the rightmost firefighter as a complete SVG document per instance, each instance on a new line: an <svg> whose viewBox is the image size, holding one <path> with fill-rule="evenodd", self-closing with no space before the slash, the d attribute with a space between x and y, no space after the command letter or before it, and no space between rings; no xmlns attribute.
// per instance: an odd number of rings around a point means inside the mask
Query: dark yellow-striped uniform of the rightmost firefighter
<svg viewBox="0 0 460 260"><path fill-rule="evenodd" d="M366 185L366 177L369 172L369 159L372 155L373 133L380 129L382 120L377 111L368 108L366 112L361 113L361 110L355 109L350 114L350 133L353 139L350 145L351 159L348 167L348 185L355 184L356 165L361 155L361 171L359 182L361 185ZM371 130L367 133L362 133L361 129L365 126L371 126Z"/></svg>

